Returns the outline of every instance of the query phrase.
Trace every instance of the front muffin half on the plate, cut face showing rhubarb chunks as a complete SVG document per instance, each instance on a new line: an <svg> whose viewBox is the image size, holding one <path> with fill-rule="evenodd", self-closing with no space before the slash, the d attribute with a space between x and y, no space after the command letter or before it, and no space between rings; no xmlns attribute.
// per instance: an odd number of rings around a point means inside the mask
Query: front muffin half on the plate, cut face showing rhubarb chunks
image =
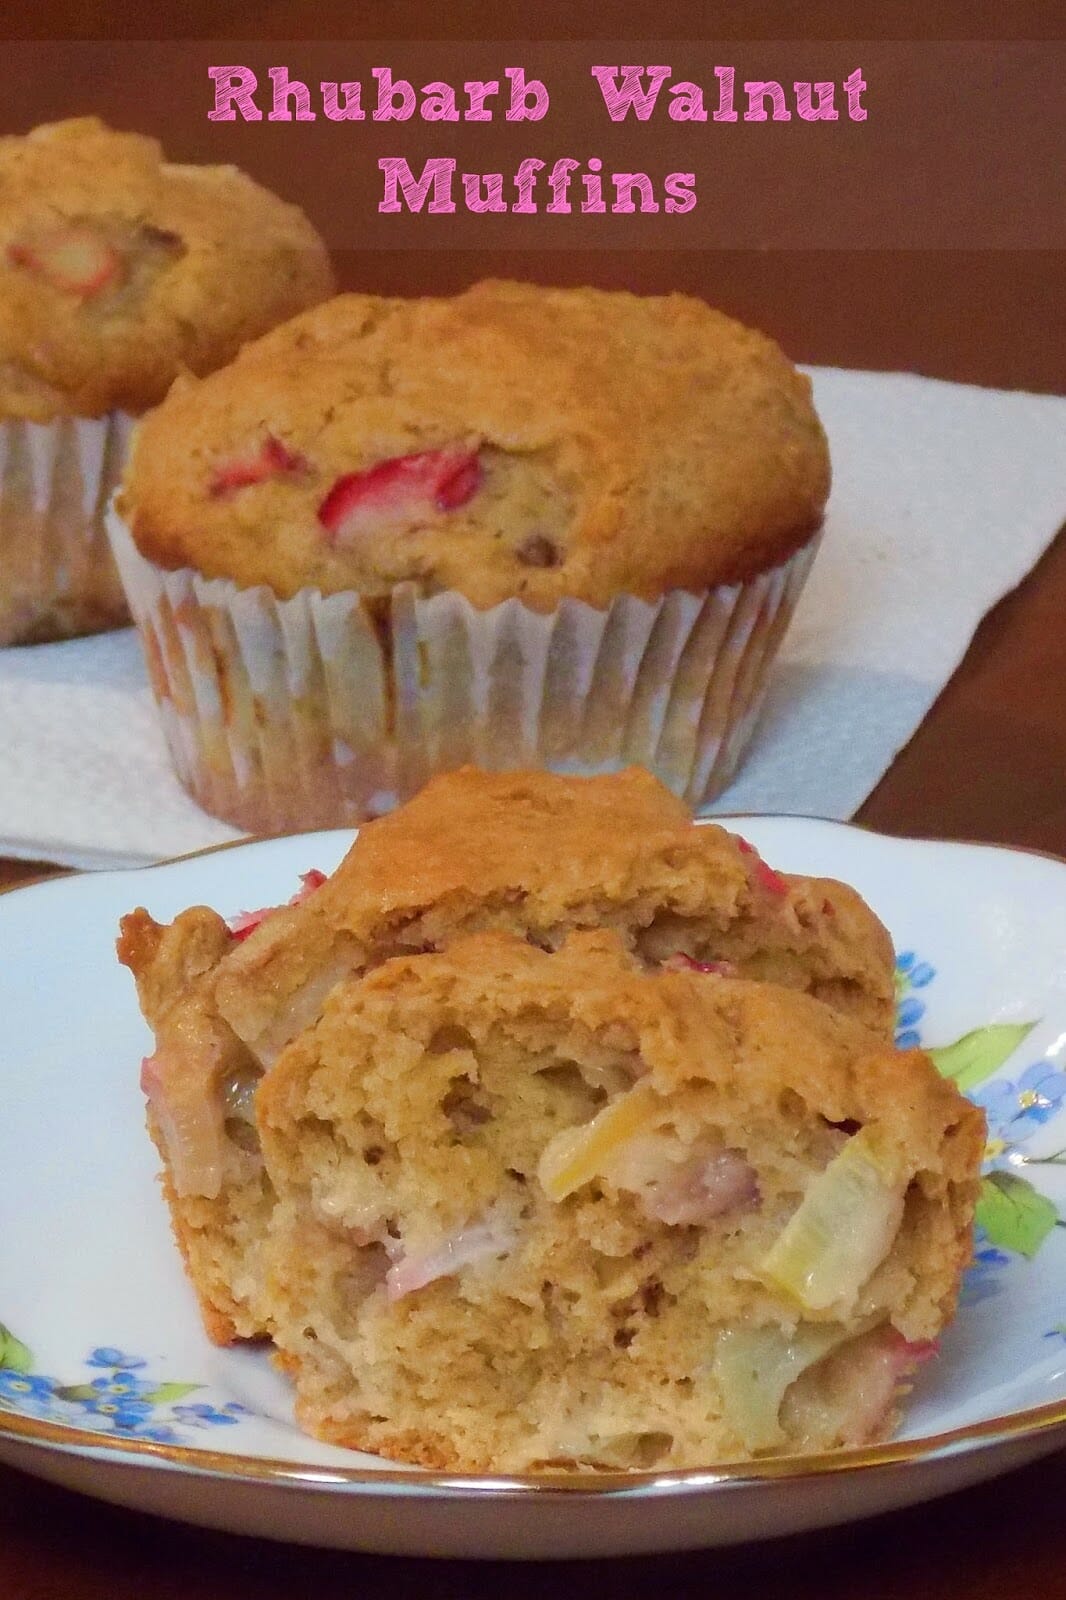
<svg viewBox="0 0 1066 1600"><path fill-rule="evenodd" d="M984 1138L919 1051L615 934L347 979L258 1120L299 1422L469 1472L882 1437L952 1317Z"/></svg>

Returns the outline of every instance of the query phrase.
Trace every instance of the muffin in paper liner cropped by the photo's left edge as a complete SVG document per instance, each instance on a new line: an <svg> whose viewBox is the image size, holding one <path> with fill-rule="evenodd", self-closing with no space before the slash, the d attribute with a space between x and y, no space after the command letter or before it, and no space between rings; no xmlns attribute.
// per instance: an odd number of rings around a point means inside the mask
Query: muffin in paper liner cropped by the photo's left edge
<svg viewBox="0 0 1066 1600"><path fill-rule="evenodd" d="M128 621L104 533L131 419L333 290L304 214L96 117L0 138L0 645Z"/></svg>

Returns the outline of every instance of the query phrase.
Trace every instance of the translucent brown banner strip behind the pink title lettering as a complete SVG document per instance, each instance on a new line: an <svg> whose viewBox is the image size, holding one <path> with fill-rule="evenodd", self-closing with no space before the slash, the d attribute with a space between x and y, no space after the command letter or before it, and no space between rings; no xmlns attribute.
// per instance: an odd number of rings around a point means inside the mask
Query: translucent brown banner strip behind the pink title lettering
<svg viewBox="0 0 1066 1600"><path fill-rule="evenodd" d="M592 78L595 64L618 72L623 62L669 67L647 120L634 112L611 120ZM733 123L714 122L717 64L735 72ZM507 66L544 83L551 104L543 120L506 120ZM234 107L232 122L210 120L213 67L229 69L230 78L251 75L258 120ZM415 93L432 82L451 85L458 120L427 122L415 110L403 122L376 122L375 67L387 67ZM271 69L301 85L311 120L295 118L291 94L282 110L293 120L272 120ZM855 70L866 83L863 122L850 118L842 91ZM547 253L555 250L621 251L629 261L635 251L1066 246L1066 216L1053 205L1063 134L1055 90L1066 80L1066 45L1053 42L19 42L8 45L6 74L6 126L69 115L72 104L110 122L128 120L136 107L138 125L165 138L173 158L235 162L304 205L333 250L360 253L355 282L365 282L370 259L384 253L375 274L384 269L384 286L395 250L503 251L511 270L517 253L519 262L530 253L552 270ZM362 122L325 115L323 80L362 86ZM488 104L491 120L463 117L467 80L503 85ZM787 122L744 120L749 80L781 86ZM797 80L836 85L837 122L799 117ZM669 115L671 85L685 82L703 88L703 123ZM1024 150L1024 184L1010 150ZM530 155L547 168L563 155L581 163L568 214L547 211L546 173L533 192L536 214L466 210L463 173L498 173L511 200L514 173ZM416 174L429 157L450 158L455 213L424 206L418 214L381 214L381 157L402 157ZM608 206L611 173L635 171L648 176L659 210L583 214L581 171L591 157L602 162ZM683 214L664 208L669 173L695 179L696 205Z"/></svg>

